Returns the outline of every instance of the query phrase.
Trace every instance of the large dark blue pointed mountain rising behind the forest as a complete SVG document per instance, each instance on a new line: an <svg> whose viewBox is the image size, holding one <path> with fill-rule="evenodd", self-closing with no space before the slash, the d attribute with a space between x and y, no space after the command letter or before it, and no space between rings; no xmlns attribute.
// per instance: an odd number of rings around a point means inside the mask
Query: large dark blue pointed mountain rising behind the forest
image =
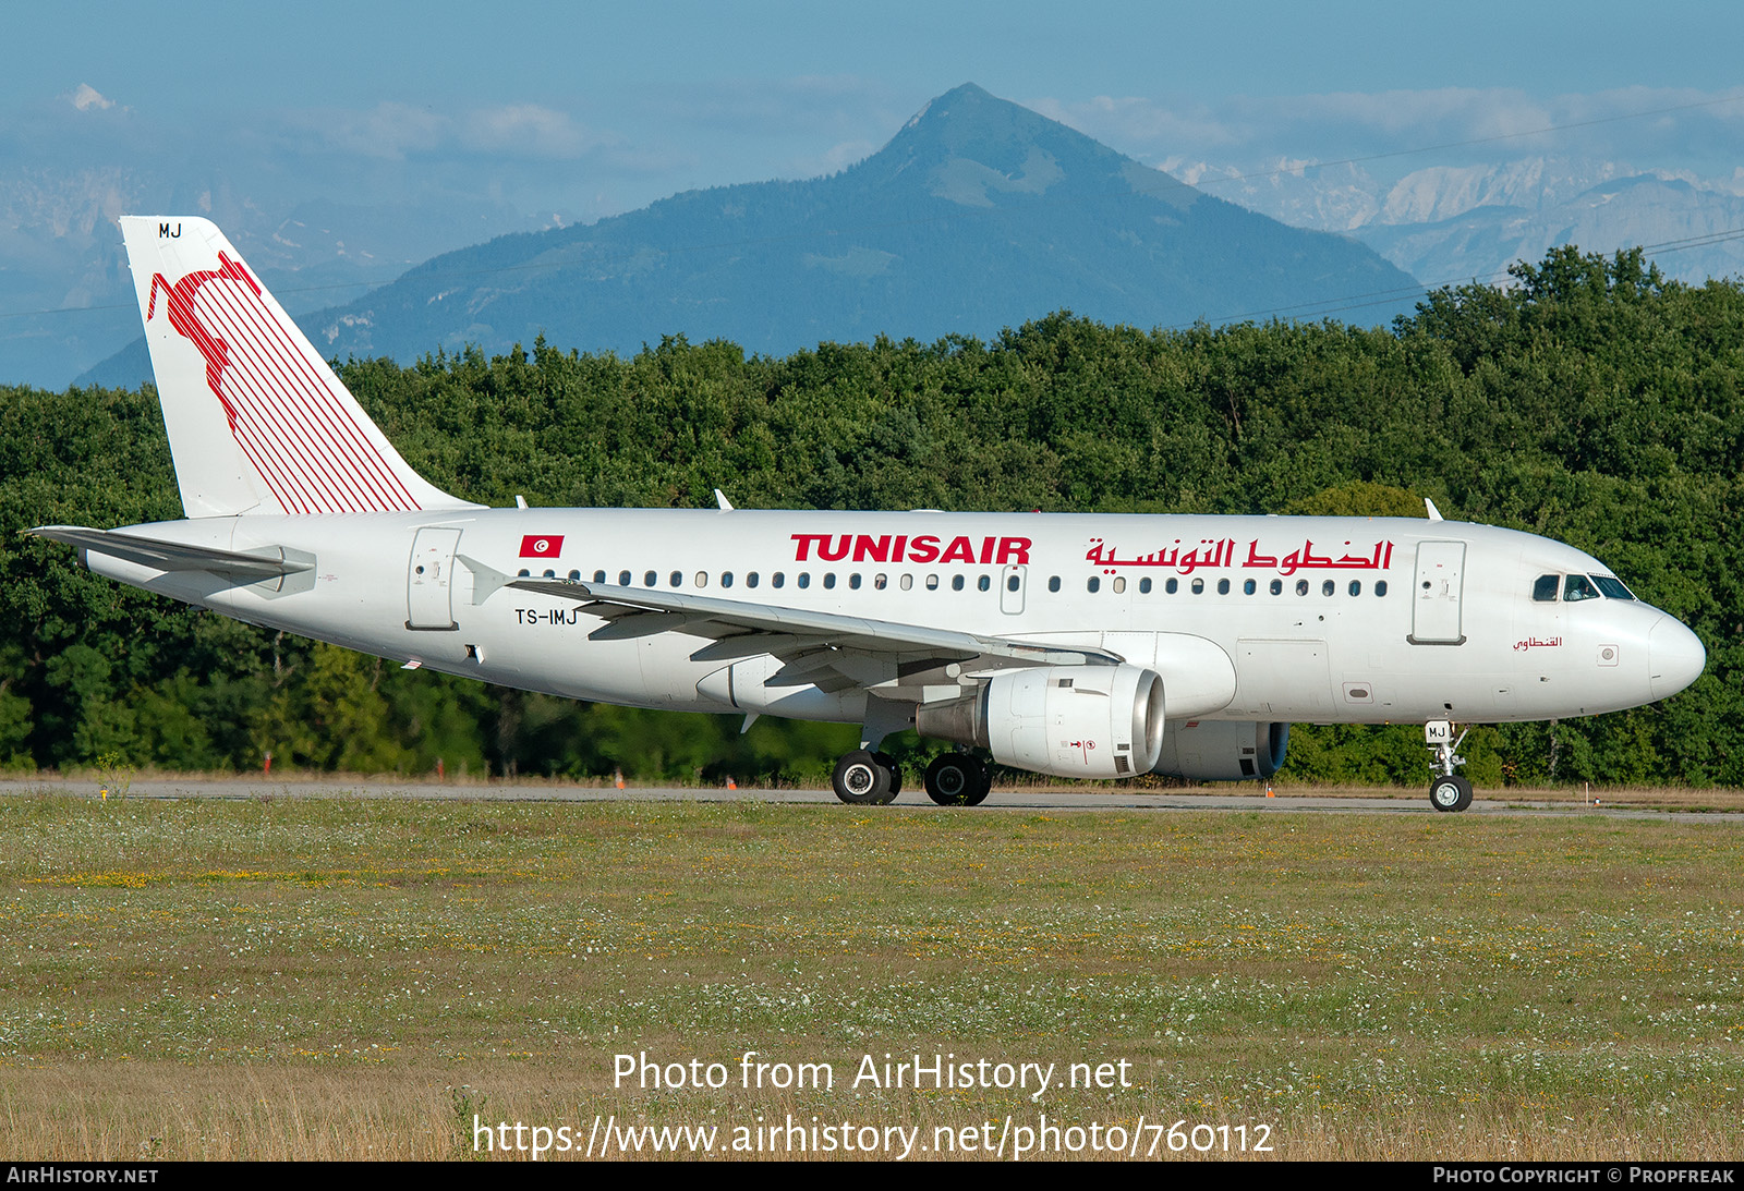
<svg viewBox="0 0 1744 1191"><path fill-rule="evenodd" d="M1402 309L1413 284L1348 237L1209 197L963 85L837 174L504 235L305 326L340 357L501 352L537 335L635 352L675 333L788 354L877 335L991 337L1060 309L1144 328L1298 312L1329 295L1399 293ZM133 350L91 378L127 382L141 364Z"/></svg>

